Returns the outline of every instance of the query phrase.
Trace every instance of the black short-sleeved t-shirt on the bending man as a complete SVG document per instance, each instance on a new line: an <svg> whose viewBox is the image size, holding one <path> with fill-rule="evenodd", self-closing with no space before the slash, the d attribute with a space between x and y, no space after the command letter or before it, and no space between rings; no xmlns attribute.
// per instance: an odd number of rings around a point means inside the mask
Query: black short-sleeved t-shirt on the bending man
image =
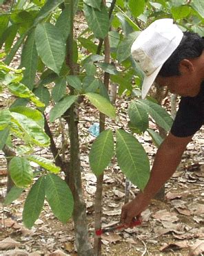
<svg viewBox="0 0 204 256"><path fill-rule="evenodd" d="M192 136L204 124L204 82L196 97L181 97L171 133L177 137Z"/></svg>

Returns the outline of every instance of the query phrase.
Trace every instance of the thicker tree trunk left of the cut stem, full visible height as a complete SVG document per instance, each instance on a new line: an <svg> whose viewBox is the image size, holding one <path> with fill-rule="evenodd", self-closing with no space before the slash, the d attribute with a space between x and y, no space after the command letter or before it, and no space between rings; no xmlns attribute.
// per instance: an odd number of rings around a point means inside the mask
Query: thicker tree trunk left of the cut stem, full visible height
<svg viewBox="0 0 204 256"><path fill-rule="evenodd" d="M67 64L70 68L70 75L74 75L74 69L77 64L73 62L73 22L74 22L74 0L65 1L70 6L70 35L67 42ZM70 87L70 94L74 90ZM92 256L93 250L88 239L88 226L86 221L85 202L83 200L82 183L81 183L81 160L79 152L79 132L78 132L78 107L72 104L69 115L65 115L68 122L70 135L70 167L68 173L68 185L72 190L74 197L74 211L72 218L74 221L75 243L77 255Z"/></svg>

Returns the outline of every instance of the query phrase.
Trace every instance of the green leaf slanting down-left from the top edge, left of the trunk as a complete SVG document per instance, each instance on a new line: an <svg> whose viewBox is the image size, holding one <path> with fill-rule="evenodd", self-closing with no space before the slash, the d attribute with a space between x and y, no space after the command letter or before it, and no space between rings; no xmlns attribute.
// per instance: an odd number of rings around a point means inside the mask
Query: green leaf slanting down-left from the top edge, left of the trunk
<svg viewBox="0 0 204 256"><path fill-rule="evenodd" d="M34 20L34 26L36 26L39 21L50 15L50 13L52 13L61 3L63 3L63 1L64 0L47 0L45 5L39 11L36 19Z"/></svg>

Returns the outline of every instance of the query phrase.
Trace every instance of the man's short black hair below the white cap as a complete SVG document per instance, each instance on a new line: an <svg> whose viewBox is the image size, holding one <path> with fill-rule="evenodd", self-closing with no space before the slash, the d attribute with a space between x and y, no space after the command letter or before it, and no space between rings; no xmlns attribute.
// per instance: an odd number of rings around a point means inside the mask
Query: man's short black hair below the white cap
<svg viewBox="0 0 204 256"><path fill-rule="evenodd" d="M183 39L174 53L163 64L159 75L170 77L180 75L179 63L181 60L199 57L203 53L204 39L197 33L185 32Z"/></svg>

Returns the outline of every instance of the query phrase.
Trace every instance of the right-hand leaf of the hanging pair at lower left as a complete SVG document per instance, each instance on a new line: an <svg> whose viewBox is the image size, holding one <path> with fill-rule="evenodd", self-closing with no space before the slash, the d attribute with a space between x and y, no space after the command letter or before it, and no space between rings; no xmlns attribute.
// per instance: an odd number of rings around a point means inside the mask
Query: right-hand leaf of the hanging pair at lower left
<svg viewBox="0 0 204 256"><path fill-rule="evenodd" d="M74 200L68 185L56 174L45 178L45 196L54 215L63 223L72 216Z"/></svg>

